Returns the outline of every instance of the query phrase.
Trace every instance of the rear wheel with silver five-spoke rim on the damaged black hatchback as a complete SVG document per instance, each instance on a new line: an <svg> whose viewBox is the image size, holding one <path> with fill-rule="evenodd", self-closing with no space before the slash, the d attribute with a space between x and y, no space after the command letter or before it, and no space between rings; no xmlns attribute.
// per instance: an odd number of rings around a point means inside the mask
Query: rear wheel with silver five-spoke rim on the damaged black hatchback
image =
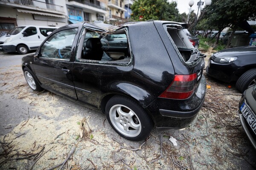
<svg viewBox="0 0 256 170"><path fill-rule="evenodd" d="M111 127L131 141L146 139L153 127L152 119L145 109L125 96L113 96L108 101L106 116Z"/></svg>

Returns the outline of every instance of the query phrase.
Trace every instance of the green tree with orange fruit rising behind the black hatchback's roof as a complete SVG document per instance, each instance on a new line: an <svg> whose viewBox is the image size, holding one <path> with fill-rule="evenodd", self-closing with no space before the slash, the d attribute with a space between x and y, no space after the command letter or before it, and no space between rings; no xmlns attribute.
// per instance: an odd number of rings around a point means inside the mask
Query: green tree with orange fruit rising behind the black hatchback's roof
<svg viewBox="0 0 256 170"><path fill-rule="evenodd" d="M131 18L135 21L172 20L181 21L177 3L168 0L137 0L131 6Z"/></svg>

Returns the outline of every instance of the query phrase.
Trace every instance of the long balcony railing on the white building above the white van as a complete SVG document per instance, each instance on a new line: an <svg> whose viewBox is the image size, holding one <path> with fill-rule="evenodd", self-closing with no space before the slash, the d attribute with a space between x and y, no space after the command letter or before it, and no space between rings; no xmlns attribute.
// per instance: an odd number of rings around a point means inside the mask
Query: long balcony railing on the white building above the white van
<svg viewBox="0 0 256 170"><path fill-rule="evenodd" d="M38 1L38 0L1 0L0 2L49 9L52 11L60 11L60 12L64 11L63 6L58 6L58 5L55 5L52 3L45 3L45 2Z"/></svg>

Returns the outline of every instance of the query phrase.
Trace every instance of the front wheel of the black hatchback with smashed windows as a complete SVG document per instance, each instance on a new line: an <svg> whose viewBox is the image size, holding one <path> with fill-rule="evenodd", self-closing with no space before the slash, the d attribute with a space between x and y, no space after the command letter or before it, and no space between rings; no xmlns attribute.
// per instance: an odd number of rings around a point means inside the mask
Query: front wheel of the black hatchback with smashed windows
<svg viewBox="0 0 256 170"><path fill-rule="evenodd" d="M33 91L43 91L44 89L41 88L39 82L34 77L32 72L28 68L23 69L24 77L26 79L26 82L28 83L29 87L32 88Z"/></svg>

